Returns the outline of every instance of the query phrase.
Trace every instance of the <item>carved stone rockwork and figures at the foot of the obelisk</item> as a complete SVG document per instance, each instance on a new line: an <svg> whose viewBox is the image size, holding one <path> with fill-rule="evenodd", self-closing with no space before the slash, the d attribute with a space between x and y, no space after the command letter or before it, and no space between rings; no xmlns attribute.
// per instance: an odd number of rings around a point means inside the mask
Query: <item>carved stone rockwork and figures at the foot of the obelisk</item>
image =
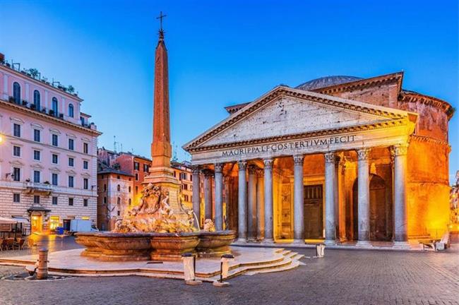
<svg viewBox="0 0 459 305"><path fill-rule="evenodd" d="M181 207L182 209L183 206ZM143 189L140 203L126 211L117 221L114 232L194 232L193 210L184 210L186 218L177 217L169 205L169 191L161 186L148 184Z"/></svg>

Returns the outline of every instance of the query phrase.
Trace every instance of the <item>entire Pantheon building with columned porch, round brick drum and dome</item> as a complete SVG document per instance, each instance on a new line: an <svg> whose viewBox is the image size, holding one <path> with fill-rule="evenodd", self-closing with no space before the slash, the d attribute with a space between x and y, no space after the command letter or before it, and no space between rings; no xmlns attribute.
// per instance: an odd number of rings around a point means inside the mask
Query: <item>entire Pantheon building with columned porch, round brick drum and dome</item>
<svg viewBox="0 0 459 305"><path fill-rule="evenodd" d="M402 72L279 85L226 110L184 145L201 224L301 244L404 246L446 231L454 110L403 89Z"/></svg>

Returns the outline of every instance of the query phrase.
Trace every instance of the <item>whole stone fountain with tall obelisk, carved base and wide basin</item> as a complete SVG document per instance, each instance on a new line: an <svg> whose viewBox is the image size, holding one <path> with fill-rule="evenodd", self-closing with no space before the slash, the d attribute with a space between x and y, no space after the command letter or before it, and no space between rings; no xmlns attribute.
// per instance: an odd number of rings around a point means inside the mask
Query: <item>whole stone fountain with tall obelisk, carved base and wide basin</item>
<svg viewBox="0 0 459 305"><path fill-rule="evenodd" d="M112 232L77 233L85 246L81 256L99 261L179 261L181 254L220 257L231 252L234 231L215 232L211 220L199 230L196 215L181 203L180 181L170 165L169 84L164 31L155 52L155 97L152 166L145 177L142 197L119 220Z"/></svg>

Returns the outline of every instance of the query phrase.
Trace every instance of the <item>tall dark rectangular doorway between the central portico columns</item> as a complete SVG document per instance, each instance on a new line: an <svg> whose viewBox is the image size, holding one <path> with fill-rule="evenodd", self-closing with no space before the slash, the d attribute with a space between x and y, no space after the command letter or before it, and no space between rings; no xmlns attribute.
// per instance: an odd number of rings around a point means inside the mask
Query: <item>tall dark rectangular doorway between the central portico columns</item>
<svg viewBox="0 0 459 305"><path fill-rule="evenodd" d="M304 236L306 239L323 237L323 186L304 186Z"/></svg>

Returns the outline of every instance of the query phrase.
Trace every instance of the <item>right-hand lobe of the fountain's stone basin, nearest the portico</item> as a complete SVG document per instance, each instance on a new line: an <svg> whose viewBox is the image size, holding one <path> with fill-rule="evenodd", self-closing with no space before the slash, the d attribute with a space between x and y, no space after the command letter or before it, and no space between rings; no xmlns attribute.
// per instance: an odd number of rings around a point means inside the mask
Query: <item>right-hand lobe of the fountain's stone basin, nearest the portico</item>
<svg viewBox="0 0 459 305"><path fill-rule="evenodd" d="M236 239L234 231L198 232L199 243L196 251L201 257L220 257L231 253L229 245Z"/></svg>

